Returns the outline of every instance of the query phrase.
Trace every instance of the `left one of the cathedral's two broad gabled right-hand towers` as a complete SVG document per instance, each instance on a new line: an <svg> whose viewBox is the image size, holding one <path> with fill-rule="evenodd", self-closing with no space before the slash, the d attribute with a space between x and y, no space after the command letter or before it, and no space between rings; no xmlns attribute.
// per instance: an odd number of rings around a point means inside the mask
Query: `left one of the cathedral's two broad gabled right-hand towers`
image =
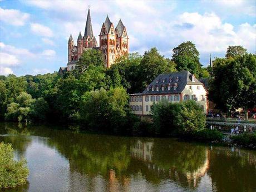
<svg viewBox="0 0 256 192"><path fill-rule="evenodd" d="M104 56L105 67L110 67L115 61L116 38L114 24L107 16L100 32L100 50Z"/></svg>

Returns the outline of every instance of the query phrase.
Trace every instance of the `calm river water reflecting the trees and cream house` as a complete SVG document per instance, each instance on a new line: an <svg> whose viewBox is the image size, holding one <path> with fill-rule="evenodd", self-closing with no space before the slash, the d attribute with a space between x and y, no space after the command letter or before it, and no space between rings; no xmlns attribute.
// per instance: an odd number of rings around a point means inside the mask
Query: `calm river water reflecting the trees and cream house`
<svg viewBox="0 0 256 192"><path fill-rule="evenodd" d="M3 191L256 191L256 151L59 128L0 123L29 168Z"/></svg>

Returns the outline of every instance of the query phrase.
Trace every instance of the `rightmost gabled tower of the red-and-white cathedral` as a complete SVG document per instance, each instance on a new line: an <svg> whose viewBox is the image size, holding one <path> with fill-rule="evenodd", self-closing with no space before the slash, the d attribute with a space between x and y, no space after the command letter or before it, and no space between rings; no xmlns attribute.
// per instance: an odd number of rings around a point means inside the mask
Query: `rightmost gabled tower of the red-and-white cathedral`
<svg viewBox="0 0 256 192"><path fill-rule="evenodd" d="M124 24L122 24L121 19L119 20L116 29L115 29L115 35L116 35L116 58L119 58L120 56L127 55L129 53L129 43L128 43L128 36L126 32L126 28Z"/></svg>

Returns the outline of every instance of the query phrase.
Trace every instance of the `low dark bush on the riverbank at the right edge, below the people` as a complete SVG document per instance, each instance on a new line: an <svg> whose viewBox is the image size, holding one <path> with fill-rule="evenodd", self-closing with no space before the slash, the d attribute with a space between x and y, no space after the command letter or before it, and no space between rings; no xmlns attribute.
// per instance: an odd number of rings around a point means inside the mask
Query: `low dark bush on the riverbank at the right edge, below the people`
<svg viewBox="0 0 256 192"><path fill-rule="evenodd" d="M234 135L232 137L233 142L243 146L254 145L256 146L256 132L254 134L249 134L245 132L241 135Z"/></svg>

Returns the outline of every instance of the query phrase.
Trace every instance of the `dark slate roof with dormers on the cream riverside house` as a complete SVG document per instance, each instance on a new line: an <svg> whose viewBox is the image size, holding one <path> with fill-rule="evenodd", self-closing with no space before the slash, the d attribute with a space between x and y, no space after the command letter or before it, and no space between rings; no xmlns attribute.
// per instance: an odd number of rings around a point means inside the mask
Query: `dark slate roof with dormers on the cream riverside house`
<svg viewBox="0 0 256 192"><path fill-rule="evenodd" d="M177 81L178 80L178 81ZM178 71L173 73L164 73L160 74L152 81L149 86L149 91L147 88L142 92L143 95L152 95L152 94L178 94L181 93L186 85L203 85L198 79L194 78L192 81L192 74L189 71ZM174 90L174 86L176 89ZM164 86L164 91L162 91L162 86ZM170 90L168 90L170 86ZM154 91L152 91L154 87ZM156 91L156 87L159 87L159 91Z"/></svg>

